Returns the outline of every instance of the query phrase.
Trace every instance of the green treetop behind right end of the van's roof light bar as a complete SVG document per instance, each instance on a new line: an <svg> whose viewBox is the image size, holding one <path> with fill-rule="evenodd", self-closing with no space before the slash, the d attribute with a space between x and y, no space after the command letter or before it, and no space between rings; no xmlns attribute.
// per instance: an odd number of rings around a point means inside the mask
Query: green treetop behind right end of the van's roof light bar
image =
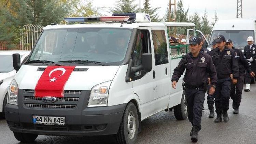
<svg viewBox="0 0 256 144"><path fill-rule="evenodd" d="M111 8L112 13L136 13L138 5L134 4L135 0L117 0L114 8Z"/></svg>

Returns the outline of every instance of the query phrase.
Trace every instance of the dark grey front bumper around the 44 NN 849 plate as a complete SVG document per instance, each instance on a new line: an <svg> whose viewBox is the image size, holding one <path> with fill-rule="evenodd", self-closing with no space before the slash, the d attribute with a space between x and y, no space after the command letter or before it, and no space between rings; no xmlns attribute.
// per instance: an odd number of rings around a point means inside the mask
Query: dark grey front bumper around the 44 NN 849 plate
<svg viewBox="0 0 256 144"><path fill-rule="evenodd" d="M86 107L80 113L74 111L24 110L7 104L5 109L8 126L13 132L39 135L110 135L118 132L126 104L106 107ZM65 126L36 125L32 116L65 116Z"/></svg>

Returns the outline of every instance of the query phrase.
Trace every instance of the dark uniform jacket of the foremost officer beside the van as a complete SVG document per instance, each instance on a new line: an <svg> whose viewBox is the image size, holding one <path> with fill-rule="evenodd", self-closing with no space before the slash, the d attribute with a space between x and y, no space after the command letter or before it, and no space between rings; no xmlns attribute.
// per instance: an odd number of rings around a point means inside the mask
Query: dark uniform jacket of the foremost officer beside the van
<svg viewBox="0 0 256 144"><path fill-rule="evenodd" d="M217 83L216 69L211 56L208 54L199 53L196 58L191 53L186 54L174 69L172 82L178 82L185 69L184 82L186 85L202 86L208 82L208 74L211 78L211 84L216 85Z"/></svg>

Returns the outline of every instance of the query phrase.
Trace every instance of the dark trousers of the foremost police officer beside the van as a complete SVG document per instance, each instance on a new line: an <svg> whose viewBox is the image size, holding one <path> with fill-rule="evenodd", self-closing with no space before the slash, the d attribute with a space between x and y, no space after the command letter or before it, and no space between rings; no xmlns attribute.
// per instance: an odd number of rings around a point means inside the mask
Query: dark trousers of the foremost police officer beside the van
<svg viewBox="0 0 256 144"><path fill-rule="evenodd" d="M186 101L188 120L192 126L197 126L201 129L202 107L204 102L204 88L186 88Z"/></svg>

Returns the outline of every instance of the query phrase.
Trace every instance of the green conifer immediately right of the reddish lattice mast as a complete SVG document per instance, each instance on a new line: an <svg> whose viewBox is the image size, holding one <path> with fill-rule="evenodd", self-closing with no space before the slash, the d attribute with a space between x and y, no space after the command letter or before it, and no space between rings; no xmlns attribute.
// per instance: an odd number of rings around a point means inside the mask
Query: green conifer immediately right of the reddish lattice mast
<svg viewBox="0 0 256 144"><path fill-rule="evenodd" d="M176 22L188 22L188 9L184 10L182 0L177 3Z"/></svg>

